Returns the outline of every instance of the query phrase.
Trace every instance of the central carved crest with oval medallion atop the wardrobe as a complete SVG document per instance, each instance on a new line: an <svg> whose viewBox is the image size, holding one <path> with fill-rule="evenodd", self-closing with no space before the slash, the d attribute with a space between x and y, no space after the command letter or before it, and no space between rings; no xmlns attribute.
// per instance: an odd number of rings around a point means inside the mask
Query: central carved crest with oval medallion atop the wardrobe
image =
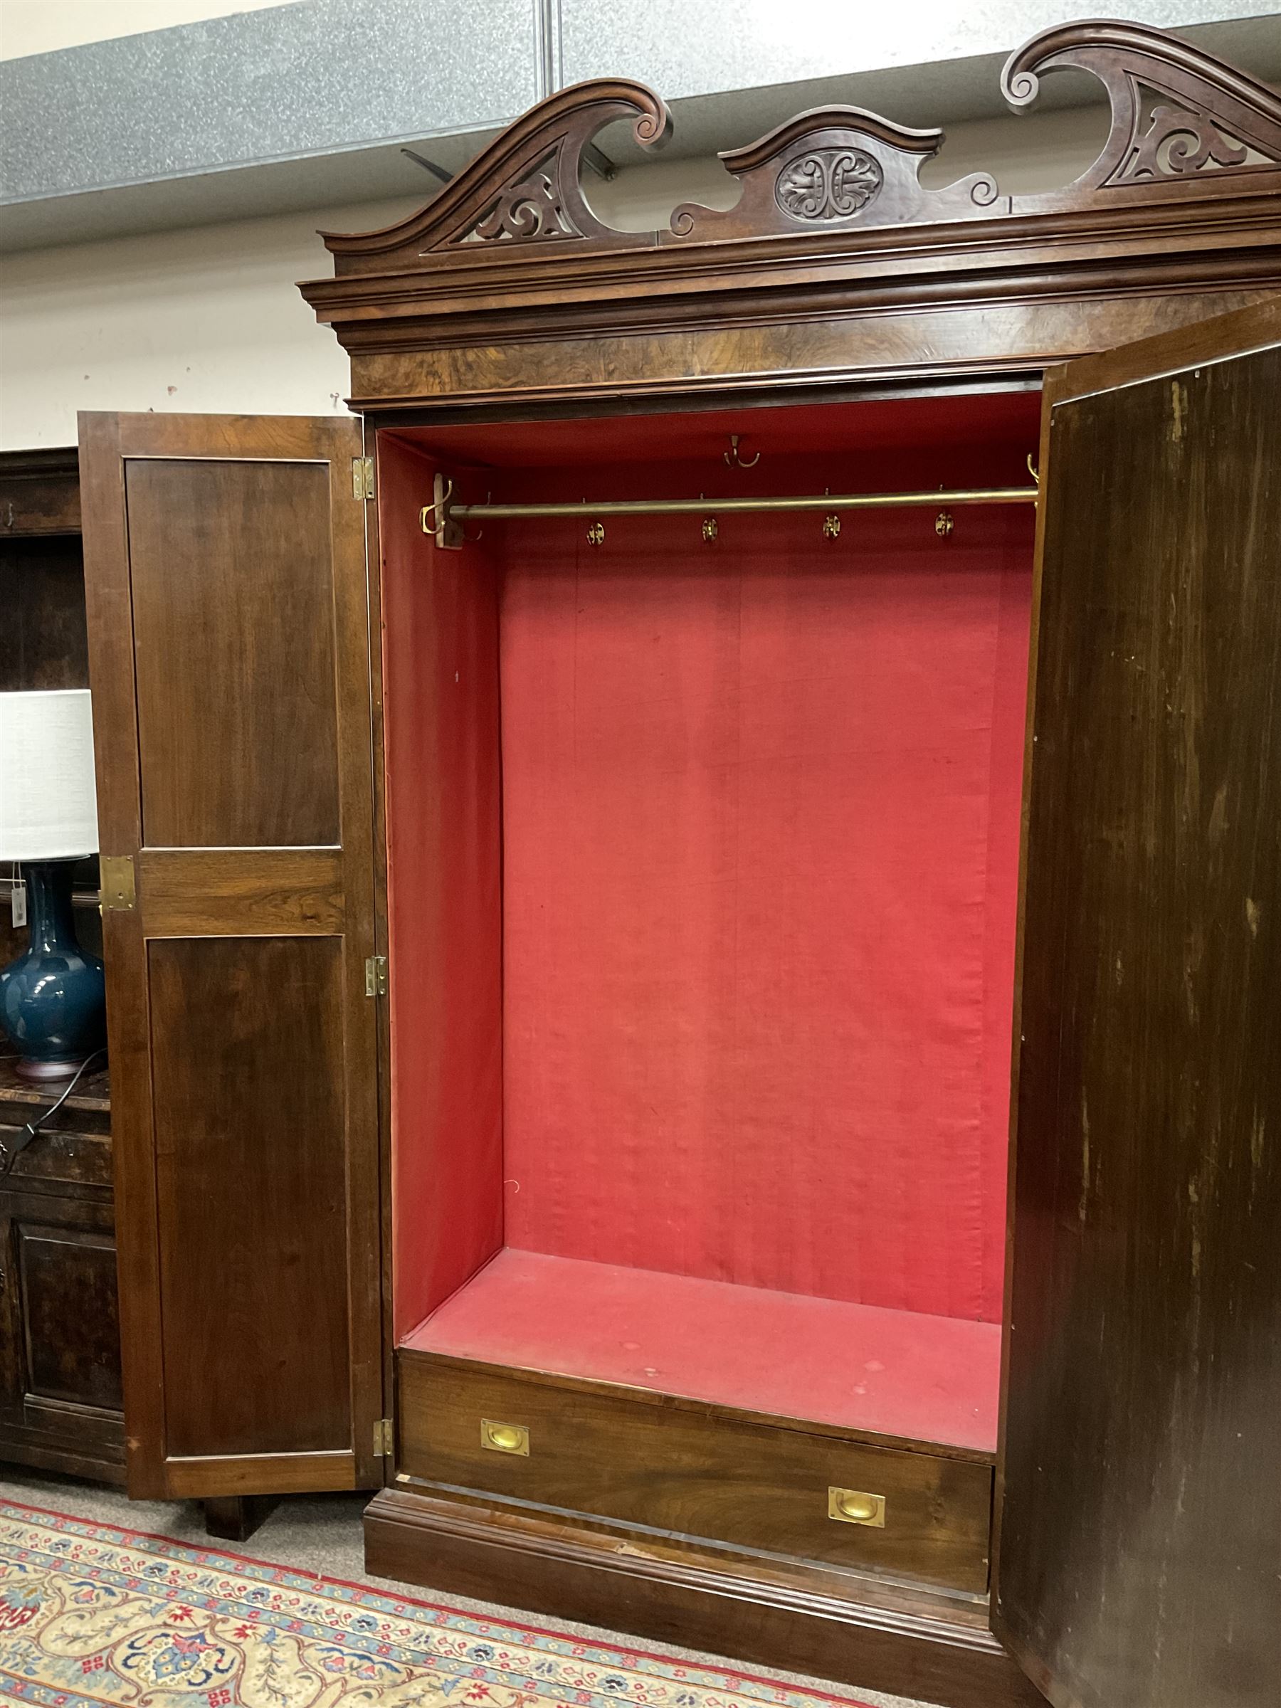
<svg viewBox="0 0 1281 1708"><path fill-rule="evenodd" d="M996 181L986 173L946 190L922 190L922 164L938 154L941 130L905 130L861 108L801 113L721 155L743 184L728 214L693 205L671 215L676 237L760 237L834 225L898 225L965 219L991 208Z"/></svg>

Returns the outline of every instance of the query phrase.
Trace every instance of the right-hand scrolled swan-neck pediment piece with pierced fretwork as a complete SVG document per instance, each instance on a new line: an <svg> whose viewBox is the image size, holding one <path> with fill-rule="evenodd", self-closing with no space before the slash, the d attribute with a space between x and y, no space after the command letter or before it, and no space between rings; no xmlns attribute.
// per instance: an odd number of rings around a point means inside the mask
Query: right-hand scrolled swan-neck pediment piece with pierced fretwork
<svg viewBox="0 0 1281 1708"><path fill-rule="evenodd" d="M1103 152L1071 186L1161 184L1281 166L1281 99L1230 65L1143 24L1064 24L1015 53L1006 101L1027 108L1045 72L1093 72L1112 102Z"/></svg>

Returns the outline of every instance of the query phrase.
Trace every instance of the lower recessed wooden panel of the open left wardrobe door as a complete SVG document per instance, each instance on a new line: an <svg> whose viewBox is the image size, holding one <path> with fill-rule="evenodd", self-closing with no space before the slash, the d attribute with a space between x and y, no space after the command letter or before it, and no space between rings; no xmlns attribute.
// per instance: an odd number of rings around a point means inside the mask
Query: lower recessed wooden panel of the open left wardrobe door
<svg viewBox="0 0 1281 1708"><path fill-rule="evenodd" d="M171 1454L348 1443L342 938L149 945Z"/></svg>

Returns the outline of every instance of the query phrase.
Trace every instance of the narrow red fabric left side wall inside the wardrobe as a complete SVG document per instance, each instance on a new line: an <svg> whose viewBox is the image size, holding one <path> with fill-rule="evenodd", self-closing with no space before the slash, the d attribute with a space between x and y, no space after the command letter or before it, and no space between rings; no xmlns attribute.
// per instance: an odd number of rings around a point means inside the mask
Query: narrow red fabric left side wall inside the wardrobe
<svg viewBox="0 0 1281 1708"><path fill-rule="evenodd" d="M430 488L379 434L398 1336L502 1243L497 570L424 538Z"/></svg>

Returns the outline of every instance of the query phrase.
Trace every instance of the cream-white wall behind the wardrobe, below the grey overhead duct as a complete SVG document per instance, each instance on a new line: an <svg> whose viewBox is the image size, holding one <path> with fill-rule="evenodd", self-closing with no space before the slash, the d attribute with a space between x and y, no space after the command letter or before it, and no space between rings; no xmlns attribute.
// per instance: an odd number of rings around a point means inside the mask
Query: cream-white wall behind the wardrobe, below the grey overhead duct
<svg viewBox="0 0 1281 1708"><path fill-rule="evenodd" d="M929 176L979 167L1003 190L1074 178L1102 114L958 125ZM666 224L678 202L728 205L717 161L670 161L588 186L625 229ZM408 214L377 203L166 231L10 256L0 282L0 449L72 444L77 410L323 415L343 408L347 357L297 294L331 272L318 227L369 231Z"/></svg>

